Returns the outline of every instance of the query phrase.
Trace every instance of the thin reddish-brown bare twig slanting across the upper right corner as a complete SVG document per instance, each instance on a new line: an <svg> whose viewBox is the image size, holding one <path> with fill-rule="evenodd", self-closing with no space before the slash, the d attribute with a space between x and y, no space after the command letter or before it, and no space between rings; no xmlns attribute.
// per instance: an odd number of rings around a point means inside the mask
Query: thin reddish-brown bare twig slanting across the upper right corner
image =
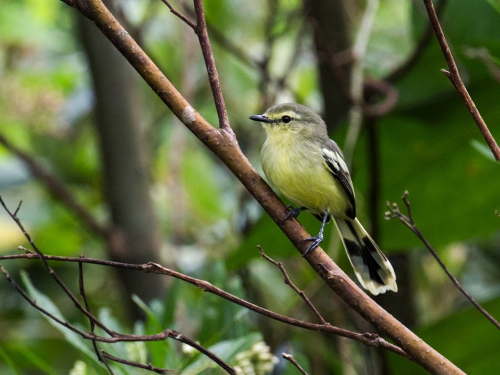
<svg viewBox="0 0 500 375"><path fill-rule="evenodd" d="M446 38L444 37L444 33L442 32L441 25L439 24L439 20L437 19L436 11L434 9L434 5L432 4L432 0L423 0L425 4L425 8L427 9L427 14L429 15L430 23L432 23L432 27L434 28L434 32L437 37L437 41L441 47L442 54L446 60L446 64L448 65L448 70L441 69L441 71L449 78L456 91L465 102L468 111L472 115L477 127L479 127L484 140L489 146L489 149L493 153L493 156L496 160L500 160L500 148L496 143L495 139L491 135L486 123L482 119L481 114L477 110L477 107L474 104L474 101L470 97L465 85L460 78L460 74L458 73L458 68L456 67L455 60L453 59L453 55L448 47L448 43L446 42Z"/></svg>

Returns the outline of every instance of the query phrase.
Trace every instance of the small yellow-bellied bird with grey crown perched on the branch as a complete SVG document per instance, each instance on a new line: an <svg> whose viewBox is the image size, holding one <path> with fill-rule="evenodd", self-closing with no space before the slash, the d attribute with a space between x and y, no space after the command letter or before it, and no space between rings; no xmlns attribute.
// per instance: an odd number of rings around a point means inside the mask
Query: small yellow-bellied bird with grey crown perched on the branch
<svg viewBox="0 0 500 375"><path fill-rule="evenodd" d="M280 103L249 116L262 123L266 139L260 152L265 176L297 207L284 219L306 210L321 221L302 256L323 240L333 218L359 283L372 294L397 291L394 269L356 217L354 187L340 147L329 138L326 123L312 109Z"/></svg>

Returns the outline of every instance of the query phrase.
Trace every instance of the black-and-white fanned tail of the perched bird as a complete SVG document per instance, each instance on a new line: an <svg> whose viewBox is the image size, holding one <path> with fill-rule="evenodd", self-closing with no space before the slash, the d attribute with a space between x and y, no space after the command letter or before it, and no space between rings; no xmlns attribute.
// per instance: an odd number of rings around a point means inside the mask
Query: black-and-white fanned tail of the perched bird
<svg viewBox="0 0 500 375"><path fill-rule="evenodd" d="M397 291L392 265L359 220L335 217L335 224L361 285L374 295L385 293L389 289Z"/></svg>

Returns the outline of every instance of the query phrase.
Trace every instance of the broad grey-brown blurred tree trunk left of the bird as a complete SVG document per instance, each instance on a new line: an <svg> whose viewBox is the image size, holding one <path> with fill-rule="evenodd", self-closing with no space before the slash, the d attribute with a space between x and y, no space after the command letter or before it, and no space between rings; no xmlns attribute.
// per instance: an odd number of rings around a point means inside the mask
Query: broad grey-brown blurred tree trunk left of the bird
<svg viewBox="0 0 500 375"><path fill-rule="evenodd" d="M77 24L94 87L105 199L117 229L108 238L109 255L123 262L158 262L160 240L149 195L150 148L137 73L90 21L77 16ZM132 293L148 301L164 291L158 277L117 272L128 301ZM135 305L130 306L137 317Z"/></svg>

